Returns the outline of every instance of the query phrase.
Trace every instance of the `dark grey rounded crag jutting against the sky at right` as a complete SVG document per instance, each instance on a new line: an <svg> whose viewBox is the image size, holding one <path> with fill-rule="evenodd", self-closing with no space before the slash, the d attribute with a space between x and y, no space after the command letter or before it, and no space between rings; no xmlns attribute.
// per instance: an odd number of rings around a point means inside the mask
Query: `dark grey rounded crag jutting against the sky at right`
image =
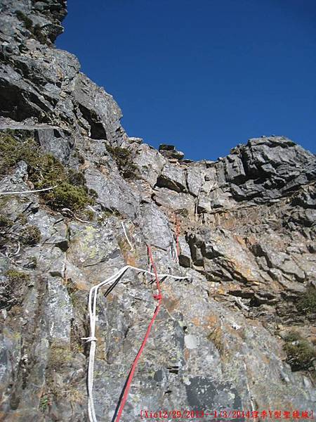
<svg viewBox="0 0 316 422"><path fill-rule="evenodd" d="M227 168L227 181L239 185L232 187L237 200L269 202L315 179L315 155L287 138L250 139L239 151L230 158L239 163L234 172Z"/></svg>

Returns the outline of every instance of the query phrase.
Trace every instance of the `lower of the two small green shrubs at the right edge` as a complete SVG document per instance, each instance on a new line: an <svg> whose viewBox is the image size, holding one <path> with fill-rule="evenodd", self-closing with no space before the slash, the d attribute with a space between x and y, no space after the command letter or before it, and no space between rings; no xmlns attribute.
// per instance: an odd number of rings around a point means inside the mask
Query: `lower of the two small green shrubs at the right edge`
<svg viewBox="0 0 316 422"><path fill-rule="evenodd" d="M292 371L309 369L312 366L312 361L316 358L314 347L296 331L291 331L284 340L283 348L287 353L286 361Z"/></svg>

